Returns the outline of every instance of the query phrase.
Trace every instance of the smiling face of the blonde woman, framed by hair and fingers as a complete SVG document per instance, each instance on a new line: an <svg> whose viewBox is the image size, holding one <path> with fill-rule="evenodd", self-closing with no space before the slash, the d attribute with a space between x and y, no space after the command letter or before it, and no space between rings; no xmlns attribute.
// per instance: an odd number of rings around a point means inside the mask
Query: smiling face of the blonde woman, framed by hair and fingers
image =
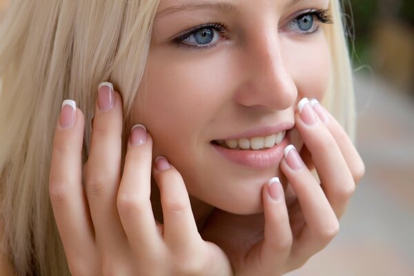
<svg viewBox="0 0 414 276"><path fill-rule="evenodd" d="M132 121L190 195L231 213L262 210L262 186L297 140L297 101L328 86L328 3L161 0Z"/></svg>

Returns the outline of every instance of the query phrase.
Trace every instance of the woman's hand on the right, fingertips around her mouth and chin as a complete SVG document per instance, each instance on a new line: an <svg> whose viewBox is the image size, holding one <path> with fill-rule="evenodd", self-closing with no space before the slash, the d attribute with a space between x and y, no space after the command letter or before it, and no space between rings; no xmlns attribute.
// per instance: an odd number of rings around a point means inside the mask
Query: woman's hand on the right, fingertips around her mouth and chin
<svg viewBox="0 0 414 276"><path fill-rule="evenodd" d="M338 219L364 175L346 132L317 101L312 103L295 115L308 166L291 147L280 165L295 197L287 192L285 200L281 184L266 184L264 214L215 210L201 231L204 239L223 248L235 275L282 275L303 266L337 235ZM308 167L316 168L320 184Z"/></svg>

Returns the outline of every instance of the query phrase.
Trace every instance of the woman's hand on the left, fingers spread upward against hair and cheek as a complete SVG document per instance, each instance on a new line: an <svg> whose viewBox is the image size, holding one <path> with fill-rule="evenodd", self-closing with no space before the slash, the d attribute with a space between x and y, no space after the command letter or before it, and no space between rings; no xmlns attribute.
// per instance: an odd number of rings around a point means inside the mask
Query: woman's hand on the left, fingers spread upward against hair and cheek
<svg viewBox="0 0 414 276"><path fill-rule="evenodd" d="M156 223L150 204L152 139L140 126L132 128L121 174L117 92L99 89L84 188L83 114L63 106L59 123L49 192L72 275L231 274L224 252L201 239L186 186L164 157L152 169L164 213L164 225Z"/></svg>

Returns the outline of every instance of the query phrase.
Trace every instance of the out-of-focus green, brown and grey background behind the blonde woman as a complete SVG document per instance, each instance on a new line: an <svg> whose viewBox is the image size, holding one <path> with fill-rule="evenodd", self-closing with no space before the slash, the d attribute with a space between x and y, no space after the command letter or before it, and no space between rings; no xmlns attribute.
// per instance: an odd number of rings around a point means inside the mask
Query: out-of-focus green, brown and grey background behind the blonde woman
<svg viewBox="0 0 414 276"><path fill-rule="evenodd" d="M414 276L414 1L342 1L366 176L339 235L288 275Z"/></svg>

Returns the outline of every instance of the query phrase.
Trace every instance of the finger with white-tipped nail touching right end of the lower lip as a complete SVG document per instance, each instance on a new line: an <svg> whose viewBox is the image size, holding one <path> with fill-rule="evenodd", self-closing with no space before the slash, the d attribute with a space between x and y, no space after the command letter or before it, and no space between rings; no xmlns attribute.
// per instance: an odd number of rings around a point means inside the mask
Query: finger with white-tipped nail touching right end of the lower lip
<svg viewBox="0 0 414 276"><path fill-rule="evenodd" d="M337 235L339 223L324 191L306 168L294 146L285 149L281 169L297 195L306 226L297 243L313 253L324 248ZM306 251L305 251L306 252Z"/></svg>

